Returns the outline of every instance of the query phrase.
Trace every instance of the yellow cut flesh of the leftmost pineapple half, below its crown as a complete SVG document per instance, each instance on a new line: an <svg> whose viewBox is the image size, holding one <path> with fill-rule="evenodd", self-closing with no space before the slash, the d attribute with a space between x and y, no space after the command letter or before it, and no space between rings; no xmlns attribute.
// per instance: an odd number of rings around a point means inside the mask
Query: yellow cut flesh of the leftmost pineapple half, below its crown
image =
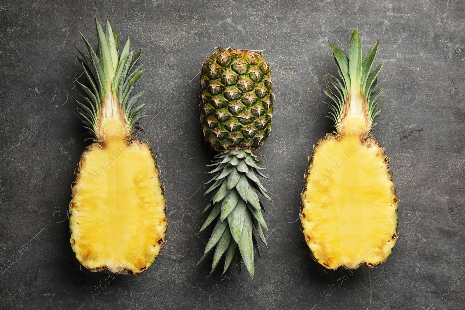
<svg viewBox="0 0 465 310"><path fill-rule="evenodd" d="M78 260L93 271L135 274L148 268L167 226L149 145L124 139L94 143L79 171L70 203L71 244Z"/></svg>

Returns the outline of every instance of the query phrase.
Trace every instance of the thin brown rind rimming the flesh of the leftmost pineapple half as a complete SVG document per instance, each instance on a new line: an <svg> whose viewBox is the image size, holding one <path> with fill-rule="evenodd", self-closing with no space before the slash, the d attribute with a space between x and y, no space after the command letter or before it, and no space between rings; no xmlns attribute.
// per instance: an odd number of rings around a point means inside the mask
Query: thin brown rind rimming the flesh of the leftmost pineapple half
<svg viewBox="0 0 465 310"><path fill-rule="evenodd" d="M166 228L167 228L168 219L166 218L166 200L163 197L165 188L164 188L163 183L160 180L159 168L158 168L158 165L157 165L157 158L153 155L152 148L151 148L151 146L149 145L148 142L142 142L139 139L133 139L131 141L127 141L127 143L128 144L136 143L136 144L140 144L140 145L145 145L145 147L147 147L147 149L149 150L151 157L153 158L153 164L154 164L154 169L155 169L154 172L155 172L155 175L157 177L157 182L158 182L159 187L160 187L161 198L162 198L162 201L164 203L163 212L160 214L160 216L163 217L163 220L160 222L160 224L161 224L161 226L163 228L162 228L162 231L160 231L160 233L157 233L157 236L161 236L161 238L157 241L158 245L156 245L156 248L157 248L156 251L153 252L153 255L151 255L150 257L146 257L147 264L144 267L140 268L140 269L137 269L137 268L135 269L135 268L129 267L129 264L127 264L127 262L125 262L124 260L121 261L121 266L122 267L119 268L119 269L115 269L114 267L109 267L109 266L106 266L106 265L90 267L89 264L84 262L82 259L79 259L79 257L82 257L82 255L80 253L81 249L79 247L75 246L75 244L73 244L73 242L75 243L75 240L74 240L73 229L72 229L73 223L77 220L77 218L75 216L73 216L74 198L77 195L80 194L75 189L76 189L77 182L79 182L80 176L82 175L82 173L84 171L83 170L84 169L83 165L84 165L84 163L86 161L86 157L88 156L88 153L95 151L95 149L99 149L99 148L104 147L101 143L94 142L92 145L89 145L86 148L86 151L84 151L82 153L82 155L81 155L80 162L77 165L77 168L76 168L76 171L75 171L75 180L73 181L73 183L71 185L72 200L71 200L71 202L69 204L71 244L72 244L73 251L76 253L76 257L78 258L78 260L80 260L80 263L84 267L86 267L86 269L91 270L93 272L103 271L103 272L112 273L112 274L137 274L137 273L140 273L140 272L146 270L148 267L150 267L150 265L153 263L155 258L158 257L159 251L161 250L163 245L166 243ZM161 242L160 242L160 240L161 240ZM137 249L134 249L133 251L137 251ZM135 254L135 252L134 252L134 254Z"/></svg>

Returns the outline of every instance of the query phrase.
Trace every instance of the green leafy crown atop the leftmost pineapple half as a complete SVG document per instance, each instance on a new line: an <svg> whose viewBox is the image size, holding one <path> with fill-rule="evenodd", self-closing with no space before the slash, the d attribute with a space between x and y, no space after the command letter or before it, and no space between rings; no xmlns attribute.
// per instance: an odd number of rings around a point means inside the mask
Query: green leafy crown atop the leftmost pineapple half
<svg viewBox="0 0 465 310"><path fill-rule="evenodd" d="M97 18L95 18L95 26L98 40L97 54L82 33L80 34L86 43L90 57L74 44L82 56L82 58L78 56L78 61L84 68L91 85L89 88L77 82L85 92L85 94L80 93L85 103L78 101L78 112L84 118L82 120L84 127L96 141L105 140L106 132L102 128L102 123L105 119L112 118L118 119L122 124L125 138L132 138L136 136L133 134L134 128L142 131L138 121L147 116L146 113L138 113L145 103L133 107L144 92L129 97L134 84L144 73L141 69L144 64L130 73L140 58L142 48L134 54L128 38L120 52L116 29L112 32L109 21L106 20L106 32L103 31Z"/></svg>

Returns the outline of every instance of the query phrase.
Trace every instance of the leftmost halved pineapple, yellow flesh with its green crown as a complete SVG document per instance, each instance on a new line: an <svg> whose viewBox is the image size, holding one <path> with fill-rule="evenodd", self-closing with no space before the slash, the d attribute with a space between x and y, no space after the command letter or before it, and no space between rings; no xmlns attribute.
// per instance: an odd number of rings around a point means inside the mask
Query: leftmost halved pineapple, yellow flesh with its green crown
<svg viewBox="0 0 465 310"><path fill-rule="evenodd" d="M163 185L150 145L136 139L138 113L134 106L144 93L129 97L143 73L131 70L134 54L129 39L120 52L116 30L106 33L95 19L98 53L86 38L90 57L78 46L78 57L90 88L79 104L84 127L93 136L78 164L69 204L71 246L80 263L91 271L136 274L146 270L165 243L167 218Z"/></svg>

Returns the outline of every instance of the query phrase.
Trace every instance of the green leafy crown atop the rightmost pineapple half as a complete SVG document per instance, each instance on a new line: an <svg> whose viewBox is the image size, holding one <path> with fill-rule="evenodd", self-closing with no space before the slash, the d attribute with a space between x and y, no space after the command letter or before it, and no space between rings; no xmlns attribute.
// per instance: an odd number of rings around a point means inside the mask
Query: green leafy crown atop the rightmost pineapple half
<svg viewBox="0 0 465 310"><path fill-rule="evenodd" d="M352 33L349 57L339 47L332 44L334 60L338 67L340 79L327 73L337 94L324 91L332 102L324 102L332 112L328 116L335 123L339 135L351 134L367 136L374 125L373 120L381 112L381 100L376 100L383 87L375 90L377 76L384 65L381 63L372 69L373 60L378 51L379 39L362 58L362 46L358 27Z"/></svg>

